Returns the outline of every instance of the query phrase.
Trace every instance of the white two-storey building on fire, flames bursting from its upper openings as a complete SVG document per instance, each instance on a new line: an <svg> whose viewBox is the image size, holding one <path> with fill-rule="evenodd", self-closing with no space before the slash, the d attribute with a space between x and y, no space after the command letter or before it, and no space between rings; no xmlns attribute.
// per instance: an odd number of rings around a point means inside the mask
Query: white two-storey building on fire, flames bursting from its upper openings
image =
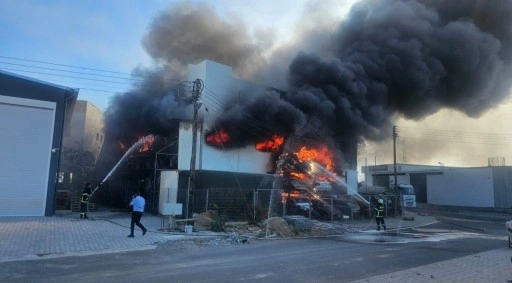
<svg viewBox="0 0 512 283"><path fill-rule="evenodd" d="M271 189L273 179L279 176L278 159L283 153L291 152L302 161L315 161L333 172L336 160L342 160L335 156L334 145L321 135L293 135L298 119L290 115L293 111L280 111L282 92L237 79L233 77L231 67L209 60L189 65L188 80L197 79L203 82L204 88L198 100L195 153L193 105L189 103L183 106L186 114L181 119L173 119L173 127L169 127L166 135L146 139L122 162L113 180L107 181L107 186L118 187L114 190L117 192L106 189L103 198L109 193L111 199L123 205L134 190L141 190L149 200L149 210L154 213L160 213L165 203L182 203L184 209L189 203L190 213L201 212L208 205L207 190L210 194L215 189L238 194L240 191ZM180 97L186 100L191 95L191 92L184 92ZM265 105L276 108L275 115L281 117L266 116L268 107L261 110L262 116L257 115L258 109L246 112L236 109L254 103L255 99L266 100ZM223 120L229 115L241 117ZM269 119L282 121L276 123ZM278 124L285 126L273 127ZM333 147L329 148L329 145ZM129 147L123 143L118 146L123 151ZM192 154L196 156L193 188L190 187ZM356 154L351 153L351 156ZM345 181L355 188L354 160L352 164L354 167L343 167L346 164L342 163L336 165L338 172L345 172L341 174ZM101 197L101 192L98 193ZM211 201L212 195L208 199Z"/></svg>

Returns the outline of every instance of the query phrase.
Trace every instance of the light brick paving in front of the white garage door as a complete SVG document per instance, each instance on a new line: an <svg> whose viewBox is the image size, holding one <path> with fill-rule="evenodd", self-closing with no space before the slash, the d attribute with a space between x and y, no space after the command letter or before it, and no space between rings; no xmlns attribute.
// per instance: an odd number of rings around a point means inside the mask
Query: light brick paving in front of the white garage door
<svg viewBox="0 0 512 283"><path fill-rule="evenodd" d="M128 238L130 217L129 212L108 211L89 213L89 219L80 219L78 213L0 217L0 262L154 249L158 243L187 237L159 232L161 218L148 214L141 220L147 234L135 227L135 238Z"/></svg>

